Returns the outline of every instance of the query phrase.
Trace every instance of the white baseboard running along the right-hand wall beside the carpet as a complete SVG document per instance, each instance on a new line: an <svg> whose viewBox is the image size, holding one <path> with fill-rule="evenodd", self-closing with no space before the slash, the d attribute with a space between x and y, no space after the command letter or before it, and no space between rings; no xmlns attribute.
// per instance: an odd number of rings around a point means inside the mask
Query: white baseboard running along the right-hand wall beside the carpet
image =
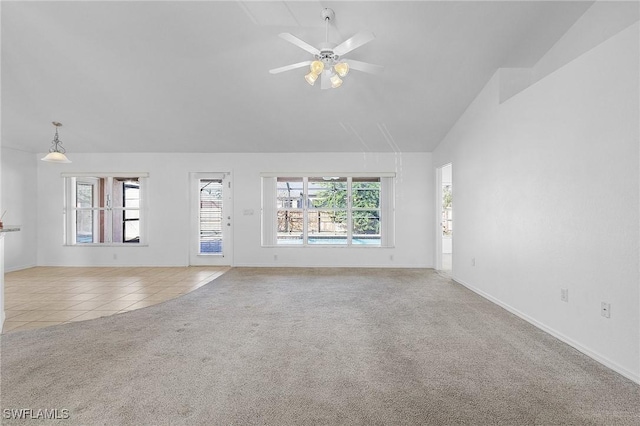
<svg viewBox="0 0 640 426"><path fill-rule="evenodd" d="M616 363L615 361L610 360L609 358L607 358L606 356L599 354L596 351L593 351L585 346L583 346L582 344L576 342L575 340L571 339L568 336L565 336L564 334L560 333L559 331L539 322L538 320L536 320L535 318L532 318L530 316L528 316L527 314L520 312L519 310L515 309L514 307L496 299L495 297L485 293L482 290L477 289L476 287L472 286L469 283L465 283L464 281L456 278L456 277L452 277L453 281L459 283L460 285L465 286L466 288L468 288L469 290L473 291L474 293L484 297L485 299L495 303L496 305L500 306L503 309L506 309L507 311L511 312L512 314L518 316L519 318L522 318L523 320L527 321L529 324L532 324L536 327L538 327L540 330L549 333L550 335L552 335L553 337L555 337L558 340L561 340L562 342L566 343L567 345L579 350L580 352L582 352L583 354L587 355L588 357L594 359L595 361L599 362L600 364L604 365L607 368L612 369L613 371L615 371L616 373L619 373L621 375L623 375L624 377L626 377L629 380L633 380L634 382L640 384L640 375L629 371L628 369L626 369L625 367L619 365L618 363Z"/></svg>

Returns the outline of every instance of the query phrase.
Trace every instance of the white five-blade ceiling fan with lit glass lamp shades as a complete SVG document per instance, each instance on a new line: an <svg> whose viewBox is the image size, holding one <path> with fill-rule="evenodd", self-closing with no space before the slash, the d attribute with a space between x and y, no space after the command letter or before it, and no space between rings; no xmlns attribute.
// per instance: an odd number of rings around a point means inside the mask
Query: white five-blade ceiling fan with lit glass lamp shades
<svg viewBox="0 0 640 426"><path fill-rule="evenodd" d="M310 72L304 76L307 83L314 85L318 77L320 77L320 88L330 89L338 88L342 85L344 78L350 69L367 72L370 74L378 74L384 70L381 65L370 64L367 62L356 61L354 59L344 59L343 56L352 50L369 43L375 38L370 31L361 31L353 37L336 45L329 43L329 21L335 18L332 9L322 9L322 18L325 21L325 42L318 48L311 46L309 43L300 40L291 33L281 33L280 37L295 44L301 49L311 53L313 60L298 62L296 64L285 65L284 67L269 70L271 74L278 74L284 71L293 70L309 66ZM342 78L341 78L342 77Z"/></svg>

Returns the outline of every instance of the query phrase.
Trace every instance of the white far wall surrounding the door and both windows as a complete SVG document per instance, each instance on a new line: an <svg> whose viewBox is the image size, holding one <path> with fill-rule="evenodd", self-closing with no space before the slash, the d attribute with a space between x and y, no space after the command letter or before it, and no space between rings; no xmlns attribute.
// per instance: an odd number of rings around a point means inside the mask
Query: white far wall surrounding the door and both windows
<svg viewBox="0 0 640 426"><path fill-rule="evenodd" d="M187 265L189 172L232 173L235 266L433 266L435 185L430 153L69 153L69 157L71 164L37 162L41 266ZM63 171L149 172L148 247L63 246ZM395 248L261 247L261 172L396 172ZM246 210L255 214L244 215Z"/></svg>

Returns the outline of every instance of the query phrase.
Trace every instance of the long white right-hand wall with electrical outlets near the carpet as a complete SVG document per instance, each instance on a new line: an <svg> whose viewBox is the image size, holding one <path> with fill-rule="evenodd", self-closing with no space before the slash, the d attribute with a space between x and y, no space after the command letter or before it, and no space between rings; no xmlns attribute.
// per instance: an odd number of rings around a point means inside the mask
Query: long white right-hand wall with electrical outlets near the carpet
<svg viewBox="0 0 640 426"><path fill-rule="evenodd" d="M433 162L455 170L454 278L640 382L638 39L502 104L497 73Z"/></svg>

